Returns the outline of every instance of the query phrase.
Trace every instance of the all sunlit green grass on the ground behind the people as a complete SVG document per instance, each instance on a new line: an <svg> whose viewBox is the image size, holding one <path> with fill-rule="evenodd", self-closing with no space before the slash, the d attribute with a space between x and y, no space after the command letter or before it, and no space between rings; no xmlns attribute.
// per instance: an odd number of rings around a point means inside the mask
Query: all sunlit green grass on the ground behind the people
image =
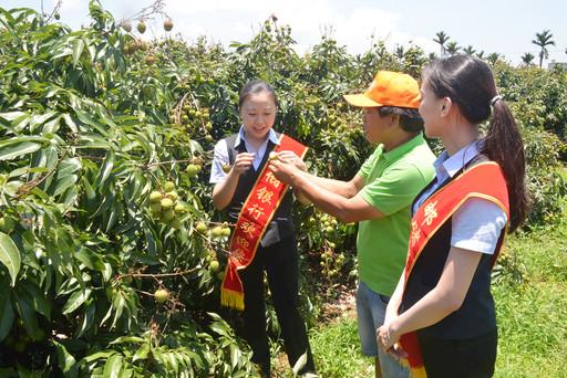
<svg viewBox="0 0 567 378"><path fill-rule="evenodd" d="M508 239L504 253L512 263L493 285L499 332L495 377L567 377L566 240L567 220ZM310 340L321 377L373 376L352 313L319 324Z"/></svg>

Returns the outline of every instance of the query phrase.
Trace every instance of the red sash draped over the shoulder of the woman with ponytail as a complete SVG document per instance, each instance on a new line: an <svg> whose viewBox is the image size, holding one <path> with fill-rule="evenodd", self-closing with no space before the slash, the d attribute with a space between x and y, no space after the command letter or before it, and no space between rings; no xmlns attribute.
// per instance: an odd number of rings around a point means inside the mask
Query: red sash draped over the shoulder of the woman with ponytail
<svg viewBox="0 0 567 378"><path fill-rule="evenodd" d="M465 170L445 187L433 193L413 216L404 270L404 292L413 266L427 242L453 213L458 210L465 200L473 197L483 198L496 203L509 220L508 191L501 167L494 161L487 161ZM506 230L503 232L506 232ZM493 263L496 261L499 250L494 251ZM408 364L410 365L412 377L426 377L417 334L411 332L402 335L400 344L408 353Z"/></svg>

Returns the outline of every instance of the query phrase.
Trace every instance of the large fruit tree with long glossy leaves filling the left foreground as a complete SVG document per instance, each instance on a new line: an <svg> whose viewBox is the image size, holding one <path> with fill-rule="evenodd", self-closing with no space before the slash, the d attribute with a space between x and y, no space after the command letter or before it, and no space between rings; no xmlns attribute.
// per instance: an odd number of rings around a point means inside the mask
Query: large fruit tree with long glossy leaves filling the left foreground
<svg viewBox="0 0 567 378"><path fill-rule="evenodd" d="M90 11L71 32L0 10L0 367L247 376L249 353L207 313L227 228L209 235L205 151L168 123L175 67L127 57L134 39Z"/></svg>

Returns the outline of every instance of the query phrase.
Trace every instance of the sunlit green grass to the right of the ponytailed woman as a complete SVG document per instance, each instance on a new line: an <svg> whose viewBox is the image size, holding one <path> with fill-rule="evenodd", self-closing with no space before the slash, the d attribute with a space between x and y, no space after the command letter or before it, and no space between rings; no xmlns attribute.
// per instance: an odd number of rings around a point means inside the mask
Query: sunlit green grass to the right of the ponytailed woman
<svg viewBox="0 0 567 378"><path fill-rule="evenodd" d="M567 222L509 239L519 284L493 286L499 345L496 377L565 377Z"/></svg>

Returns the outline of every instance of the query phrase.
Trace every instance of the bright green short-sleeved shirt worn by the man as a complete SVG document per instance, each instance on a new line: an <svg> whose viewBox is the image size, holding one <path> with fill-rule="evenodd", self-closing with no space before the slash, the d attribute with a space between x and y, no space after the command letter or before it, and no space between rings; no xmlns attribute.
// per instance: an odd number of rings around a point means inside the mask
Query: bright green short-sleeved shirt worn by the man
<svg viewBox="0 0 567 378"><path fill-rule="evenodd" d="M410 206L435 176L434 160L420 134L388 153L380 145L358 172L364 179L358 196L384 214L361 221L357 238L360 281L377 293L392 295L400 280L410 239Z"/></svg>

